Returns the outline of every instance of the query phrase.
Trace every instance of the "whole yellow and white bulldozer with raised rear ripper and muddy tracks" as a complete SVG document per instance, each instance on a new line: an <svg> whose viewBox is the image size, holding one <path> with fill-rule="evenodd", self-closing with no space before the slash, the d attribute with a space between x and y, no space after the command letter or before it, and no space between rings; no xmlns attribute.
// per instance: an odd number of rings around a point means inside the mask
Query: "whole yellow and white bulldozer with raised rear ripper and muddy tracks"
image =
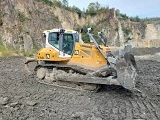
<svg viewBox="0 0 160 120"><path fill-rule="evenodd" d="M101 32L94 35L92 31L87 29L89 42L85 43L81 32L75 30L45 30L45 46L34 58L26 58L25 69L29 71L28 63L37 62L36 80L48 85L89 91L97 91L101 85L118 85L133 90L137 73L124 59L131 48L106 47Z"/></svg>

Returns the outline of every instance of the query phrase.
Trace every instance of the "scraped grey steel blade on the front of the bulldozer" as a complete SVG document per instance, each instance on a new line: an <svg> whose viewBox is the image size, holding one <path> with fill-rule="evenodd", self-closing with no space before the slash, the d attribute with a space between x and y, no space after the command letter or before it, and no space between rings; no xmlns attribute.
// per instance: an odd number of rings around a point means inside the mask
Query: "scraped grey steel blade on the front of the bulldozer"
<svg viewBox="0 0 160 120"><path fill-rule="evenodd" d="M137 72L127 65L125 59L119 58L116 62L117 81L126 89L134 90Z"/></svg>

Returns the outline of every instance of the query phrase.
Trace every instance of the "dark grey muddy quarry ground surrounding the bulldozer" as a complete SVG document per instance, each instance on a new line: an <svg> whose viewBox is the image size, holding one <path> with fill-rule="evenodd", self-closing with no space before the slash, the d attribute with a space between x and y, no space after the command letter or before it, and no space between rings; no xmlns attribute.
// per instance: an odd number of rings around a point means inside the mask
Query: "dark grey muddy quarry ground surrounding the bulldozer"
<svg viewBox="0 0 160 120"><path fill-rule="evenodd" d="M91 93L40 84L26 74L23 60L0 58L0 120L160 120L159 54L136 57L142 93L120 86Z"/></svg>

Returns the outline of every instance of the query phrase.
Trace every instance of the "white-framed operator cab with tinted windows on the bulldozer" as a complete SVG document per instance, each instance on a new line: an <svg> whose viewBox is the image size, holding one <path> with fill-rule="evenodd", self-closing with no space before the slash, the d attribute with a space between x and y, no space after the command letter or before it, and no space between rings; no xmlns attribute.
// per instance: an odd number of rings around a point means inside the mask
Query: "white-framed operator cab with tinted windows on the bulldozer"
<svg viewBox="0 0 160 120"><path fill-rule="evenodd" d="M71 57L75 42L79 41L79 35L74 30L52 29L43 32L46 38L46 47L52 47L59 52L59 57Z"/></svg>

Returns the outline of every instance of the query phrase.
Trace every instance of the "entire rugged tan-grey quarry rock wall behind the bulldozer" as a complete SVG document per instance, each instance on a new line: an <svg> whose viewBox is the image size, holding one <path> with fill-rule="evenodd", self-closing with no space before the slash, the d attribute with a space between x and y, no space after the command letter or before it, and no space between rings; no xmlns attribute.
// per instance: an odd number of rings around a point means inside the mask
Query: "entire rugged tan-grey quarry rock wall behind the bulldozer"
<svg viewBox="0 0 160 120"><path fill-rule="evenodd" d="M62 7L51 7L34 0L0 1L0 38L5 46L21 51L40 46L42 32L52 28L76 29L95 25L104 32L107 45L154 47L160 41L160 24L144 25L117 17L115 9L96 16L79 17ZM147 42L146 42L147 41Z"/></svg>

